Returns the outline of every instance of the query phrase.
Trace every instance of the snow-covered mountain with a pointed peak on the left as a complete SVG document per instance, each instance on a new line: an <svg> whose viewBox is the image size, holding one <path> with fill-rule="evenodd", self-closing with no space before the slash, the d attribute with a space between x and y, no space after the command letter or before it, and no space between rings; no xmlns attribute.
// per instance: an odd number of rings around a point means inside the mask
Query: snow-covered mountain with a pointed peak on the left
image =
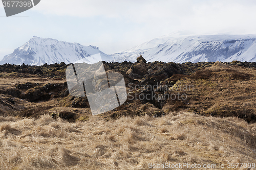
<svg viewBox="0 0 256 170"><path fill-rule="evenodd" d="M42 65L45 63L54 64L61 62L68 64L78 60L94 63L94 61L90 61L92 58L88 56L99 53L103 61L113 60L110 55L102 53L95 46L83 46L79 43L69 43L52 38L34 36L24 45L16 48L12 54L5 56L0 61L0 64L13 63L22 65L25 63L29 65Z"/></svg>

